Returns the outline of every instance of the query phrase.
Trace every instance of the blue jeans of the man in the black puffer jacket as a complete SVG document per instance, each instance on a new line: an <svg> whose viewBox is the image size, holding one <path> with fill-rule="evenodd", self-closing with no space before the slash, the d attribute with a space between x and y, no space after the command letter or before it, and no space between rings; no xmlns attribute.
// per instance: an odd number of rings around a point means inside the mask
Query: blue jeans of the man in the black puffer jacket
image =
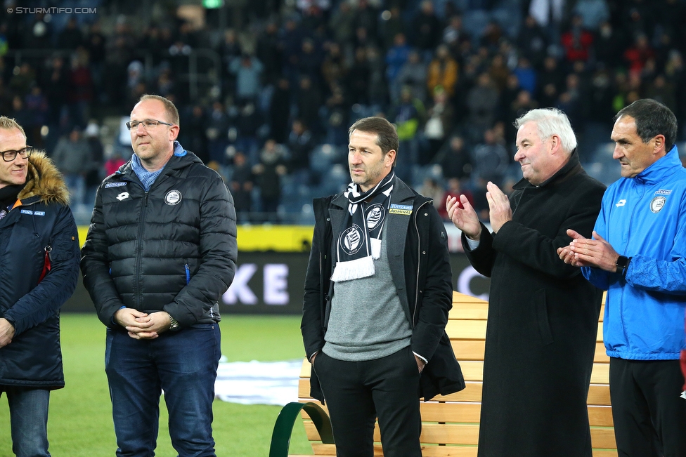
<svg viewBox="0 0 686 457"><path fill-rule="evenodd" d="M215 457L212 401L220 355L217 324L167 331L154 340L134 340L108 329L105 372L117 456L155 455L164 390L171 445L179 456Z"/></svg>

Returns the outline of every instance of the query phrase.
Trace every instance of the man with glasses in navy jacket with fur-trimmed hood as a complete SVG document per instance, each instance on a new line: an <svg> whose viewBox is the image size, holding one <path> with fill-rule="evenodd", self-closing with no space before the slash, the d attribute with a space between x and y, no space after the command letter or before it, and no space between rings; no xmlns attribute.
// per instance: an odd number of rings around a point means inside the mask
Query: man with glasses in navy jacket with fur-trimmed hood
<svg viewBox="0 0 686 457"><path fill-rule="evenodd" d="M0 156L0 395L14 453L44 457L50 391L65 385L59 310L79 278L79 238L60 172L4 116Z"/></svg>

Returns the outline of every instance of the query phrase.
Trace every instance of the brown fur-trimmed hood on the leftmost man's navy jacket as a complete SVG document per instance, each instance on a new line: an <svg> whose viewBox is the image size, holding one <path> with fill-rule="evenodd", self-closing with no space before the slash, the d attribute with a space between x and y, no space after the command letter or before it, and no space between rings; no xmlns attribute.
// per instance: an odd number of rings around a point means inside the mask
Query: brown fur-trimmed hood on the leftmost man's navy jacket
<svg viewBox="0 0 686 457"><path fill-rule="evenodd" d="M29 157L26 185L18 199L40 197L41 203L69 205L69 189L53 161L43 151L34 151Z"/></svg>

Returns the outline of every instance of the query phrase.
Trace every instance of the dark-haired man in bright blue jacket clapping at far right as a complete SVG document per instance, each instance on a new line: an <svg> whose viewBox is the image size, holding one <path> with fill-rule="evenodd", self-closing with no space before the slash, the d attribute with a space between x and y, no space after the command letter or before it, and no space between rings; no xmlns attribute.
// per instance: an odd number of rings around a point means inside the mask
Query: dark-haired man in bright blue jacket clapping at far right
<svg viewBox="0 0 686 457"><path fill-rule="evenodd" d="M622 178L608 187L593 239L558 250L607 290L603 340L619 456L686 456L679 355L686 346L686 169L677 120L655 100L615 118Z"/></svg>

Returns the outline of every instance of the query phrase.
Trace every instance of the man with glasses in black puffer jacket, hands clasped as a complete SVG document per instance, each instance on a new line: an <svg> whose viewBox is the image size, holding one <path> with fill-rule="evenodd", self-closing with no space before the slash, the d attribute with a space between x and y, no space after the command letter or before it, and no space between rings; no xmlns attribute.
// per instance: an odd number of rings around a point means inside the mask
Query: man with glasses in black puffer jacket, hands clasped
<svg viewBox="0 0 686 457"><path fill-rule="evenodd" d="M96 194L84 284L107 326L117 456L152 456L160 394L179 456L215 456L218 301L238 253L233 198L176 141L179 112L143 95L127 123L134 155Z"/></svg>

